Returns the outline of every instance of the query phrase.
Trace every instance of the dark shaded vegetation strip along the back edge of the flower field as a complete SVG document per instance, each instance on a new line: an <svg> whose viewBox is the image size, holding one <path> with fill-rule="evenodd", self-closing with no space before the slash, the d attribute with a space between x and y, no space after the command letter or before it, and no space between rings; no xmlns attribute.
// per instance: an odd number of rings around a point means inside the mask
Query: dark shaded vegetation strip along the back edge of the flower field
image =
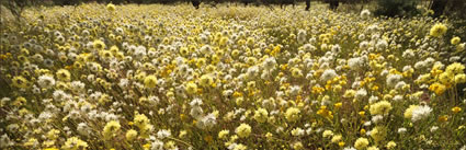
<svg viewBox="0 0 466 150"><path fill-rule="evenodd" d="M211 7L216 7L220 3L240 3L245 5L271 5L271 4L296 4L300 2L308 3L309 1L318 1L329 3L333 10L338 9L341 4L350 5L375 5L374 14L394 16L414 16L420 14L421 11L418 5L427 5L425 8L433 10L434 18L446 15L450 18L466 19L466 0L1 0L1 4L10 10L14 15L21 13L22 9L30 5L76 5L87 2L98 3L114 3L114 4L148 4L148 3L162 3L162 4L177 4L177 3L192 3L197 7L197 3L204 3ZM361 7L362 5L362 7ZM357 8L357 7L356 7ZM361 10L359 10L361 11Z"/></svg>

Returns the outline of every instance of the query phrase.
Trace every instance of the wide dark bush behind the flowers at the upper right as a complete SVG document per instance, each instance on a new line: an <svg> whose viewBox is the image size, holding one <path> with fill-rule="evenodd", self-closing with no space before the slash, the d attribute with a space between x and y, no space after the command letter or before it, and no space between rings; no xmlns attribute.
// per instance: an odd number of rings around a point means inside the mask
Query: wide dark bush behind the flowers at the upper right
<svg viewBox="0 0 466 150"><path fill-rule="evenodd" d="M419 14L418 0L377 0L376 15L412 16Z"/></svg>

